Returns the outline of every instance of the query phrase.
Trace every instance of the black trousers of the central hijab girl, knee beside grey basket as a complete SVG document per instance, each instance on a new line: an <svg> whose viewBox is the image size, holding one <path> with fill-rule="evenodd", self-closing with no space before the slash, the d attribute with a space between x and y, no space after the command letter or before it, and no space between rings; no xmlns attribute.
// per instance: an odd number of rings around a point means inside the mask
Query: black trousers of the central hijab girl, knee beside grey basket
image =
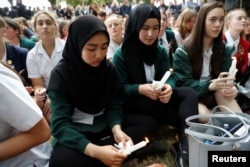
<svg viewBox="0 0 250 167"><path fill-rule="evenodd" d="M180 128L181 135L187 127L185 119L198 114L198 97L189 87L178 87L173 91L169 103L151 100L141 96L125 103L125 114L137 113L150 115L161 125L172 125Z"/></svg>

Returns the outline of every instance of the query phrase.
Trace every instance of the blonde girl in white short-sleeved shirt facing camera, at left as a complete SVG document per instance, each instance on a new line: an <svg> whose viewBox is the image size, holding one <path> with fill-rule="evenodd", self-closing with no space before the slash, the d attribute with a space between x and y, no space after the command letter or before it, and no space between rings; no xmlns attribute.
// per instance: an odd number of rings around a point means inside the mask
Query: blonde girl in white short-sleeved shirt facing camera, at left
<svg viewBox="0 0 250 167"><path fill-rule="evenodd" d="M34 88L34 98L49 122L50 100L45 90L49 84L51 70L62 58L65 42L57 38L57 24L53 13L39 11L33 19L34 30L40 41L29 51L26 65Z"/></svg>

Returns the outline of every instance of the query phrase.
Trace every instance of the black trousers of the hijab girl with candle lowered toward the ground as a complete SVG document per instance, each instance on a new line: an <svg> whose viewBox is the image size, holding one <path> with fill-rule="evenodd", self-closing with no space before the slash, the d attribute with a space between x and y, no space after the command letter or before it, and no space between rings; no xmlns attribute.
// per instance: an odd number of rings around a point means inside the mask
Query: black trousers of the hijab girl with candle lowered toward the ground
<svg viewBox="0 0 250 167"><path fill-rule="evenodd" d="M144 140L145 136L151 136L158 129L159 124L153 117L148 115L125 115L123 131L127 133L134 143ZM110 130L100 133L86 133L89 140L97 145L113 145L115 143ZM129 157L128 157L129 159ZM127 160L128 160L127 159ZM56 144L50 157L50 167L106 167L97 159L77 150Z"/></svg>

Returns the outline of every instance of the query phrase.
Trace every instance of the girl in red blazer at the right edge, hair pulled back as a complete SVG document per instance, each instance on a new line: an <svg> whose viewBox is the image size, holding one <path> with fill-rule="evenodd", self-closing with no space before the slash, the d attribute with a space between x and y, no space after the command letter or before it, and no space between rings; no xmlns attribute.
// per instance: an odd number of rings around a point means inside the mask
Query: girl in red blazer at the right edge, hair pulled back
<svg viewBox="0 0 250 167"><path fill-rule="evenodd" d="M243 9L231 10L225 18L224 42L226 47L232 48L237 60L236 81L240 81L241 77L248 67L248 51L250 49L249 42L243 38L244 29L247 25L247 15Z"/></svg>

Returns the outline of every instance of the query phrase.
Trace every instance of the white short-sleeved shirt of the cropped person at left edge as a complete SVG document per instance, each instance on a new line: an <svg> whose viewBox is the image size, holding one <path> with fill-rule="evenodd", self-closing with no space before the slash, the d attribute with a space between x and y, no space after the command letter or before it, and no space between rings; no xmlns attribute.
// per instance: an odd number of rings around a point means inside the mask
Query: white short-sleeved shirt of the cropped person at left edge
<svg viewBox="0 0 250 167"><path fill-rule="evenodd" d="M3 95L0 102L0 142L3 142L34 127L43 115L15 73L0 64L0 75L0 94ZM50 143L45 142L14 157L1 160L0 166L48 167L51 151Z"/></svg>

